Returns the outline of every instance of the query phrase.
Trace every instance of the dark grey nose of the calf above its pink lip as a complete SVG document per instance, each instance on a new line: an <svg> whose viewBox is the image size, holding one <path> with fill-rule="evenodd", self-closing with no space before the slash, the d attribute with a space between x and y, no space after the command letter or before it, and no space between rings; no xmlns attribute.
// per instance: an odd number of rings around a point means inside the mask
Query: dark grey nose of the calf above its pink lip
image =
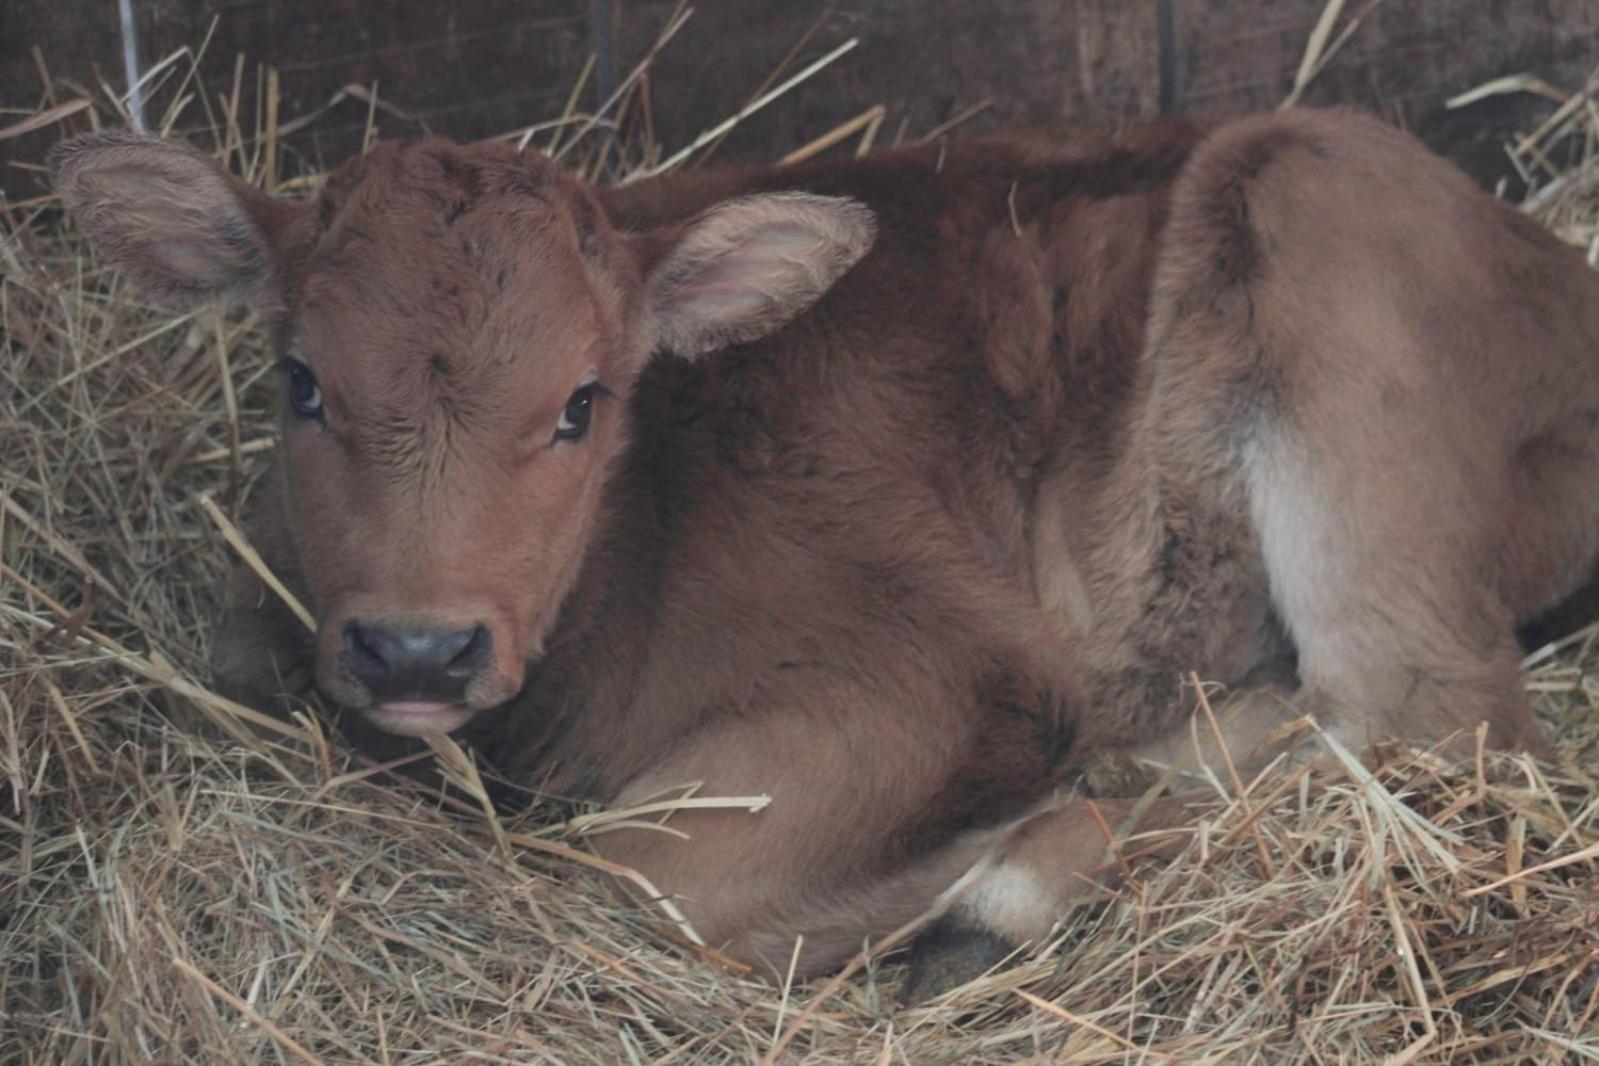
<svg viewBox="0 0 1599 1066"><path fill-rule="evenodd" d="M457 703L489 660L492 638L467 630L344 623L345 668L377 703Z"/></svg>

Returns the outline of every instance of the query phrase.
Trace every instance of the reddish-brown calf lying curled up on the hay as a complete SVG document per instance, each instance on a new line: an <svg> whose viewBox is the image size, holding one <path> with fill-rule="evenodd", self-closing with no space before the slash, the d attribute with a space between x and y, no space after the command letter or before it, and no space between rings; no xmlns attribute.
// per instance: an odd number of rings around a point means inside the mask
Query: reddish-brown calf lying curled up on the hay
<svg viewBox="0 0 1599 1066"><path fill-rule="evenodd" d="M1599 280L1369 118L620 189L424 141L313 203L101 134L54 176L283 352L256 535L320 638L246 574L222 679L556 793L771 794L600 837L739 957L833 967L956 882L1041 935L1102 855L1055 788L1182 737L1190 670L1540 743L1513 628L1599 548Z"/></svg>

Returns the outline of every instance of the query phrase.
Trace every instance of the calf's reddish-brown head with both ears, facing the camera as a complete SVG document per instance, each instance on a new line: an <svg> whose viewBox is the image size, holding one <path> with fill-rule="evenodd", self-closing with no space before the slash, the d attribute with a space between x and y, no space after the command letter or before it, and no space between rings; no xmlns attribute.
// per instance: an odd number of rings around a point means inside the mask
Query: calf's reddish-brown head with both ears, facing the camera
<svg viewBox="0 0 1599 1066"><path fill-rule="evenodd" d="M507 145L379 145L309 203L126 134L67 142L51 171L147 289L270 324L318 684L400 734L521 687L579 580L646 360L777 329L873 238L863 206L806 193L622 232L593 190Z"/></svg>

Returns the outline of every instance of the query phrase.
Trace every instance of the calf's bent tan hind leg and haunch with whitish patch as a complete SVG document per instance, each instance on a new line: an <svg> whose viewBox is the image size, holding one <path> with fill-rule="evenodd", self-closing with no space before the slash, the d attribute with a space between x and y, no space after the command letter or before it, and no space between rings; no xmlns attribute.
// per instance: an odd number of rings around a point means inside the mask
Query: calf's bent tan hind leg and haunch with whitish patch
<svg viewBox="0 0 1599 1066"><path fill-rule="evenodd" d="M1533 312L1481 294L1509 292L1505 256L1553 267L1493 211L1351 115L1228 126L1174 192L1156 454L1204 476L1185 444L1217 440L1201 454L1236 463L1306 710L1353 742L1487 721L1498 745L1540 743L1513 633L1541 595L1527 561L1561 545L1508 511L1517 404L1557 371L1516 348Z"/></svg>

